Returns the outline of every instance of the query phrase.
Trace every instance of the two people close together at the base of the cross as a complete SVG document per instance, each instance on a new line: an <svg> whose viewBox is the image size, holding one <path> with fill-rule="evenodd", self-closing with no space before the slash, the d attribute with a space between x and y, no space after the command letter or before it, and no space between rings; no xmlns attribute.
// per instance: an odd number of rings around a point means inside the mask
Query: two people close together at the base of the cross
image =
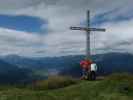
<svg viewBox="0 0 133 100"><path fill-rule="evenodd" d="M90 59L82 60L80 62L82 68L82 77L81 79L95 80L97 65Z"/></svg>

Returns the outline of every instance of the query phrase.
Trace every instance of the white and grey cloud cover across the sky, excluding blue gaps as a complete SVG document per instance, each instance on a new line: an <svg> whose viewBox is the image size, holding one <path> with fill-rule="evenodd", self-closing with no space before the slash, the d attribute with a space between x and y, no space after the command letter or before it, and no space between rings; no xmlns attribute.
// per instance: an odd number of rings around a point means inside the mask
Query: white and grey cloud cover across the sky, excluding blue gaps
<svg viewBox="0 0 133 100"><path fill-rule="evenodd" d="M4 50L8 48L7 52L18 52L19 54L30 56L37 54L39 56L60 56L85 53L84 32L71 31L69 27L83 22L88 9L91 11L91 17L104 12L109 12L105 16L108 19L114 19L118 16L132 17L133 15L131 0L0 0L0 2L1 14L24 14L48 20L50 31L42 36L0 29L0 35L2 35L0 43L3 43L0 46L0 50L3 50L3 53L6 53ZM10 6L7 7L9 3ZM122 41L132 40L132 26L132 18L127 21L119 21L119 23L107 22L101 25L100 27L105 27L107 31L105 33L96 32L96 52L116 49L132 52L132 44L125 43L120 45ZM7 39L12 40L12 42L7 43ZM14 43L13 40L18 43ZM12 46L9 46L10 44ZM42 44L42 46L37 48L33 44ZM26 45L30 46L27 48ZM92 47L94 47L94 44L92 44ZM92 51L94 51L93 48Z"/></svg>

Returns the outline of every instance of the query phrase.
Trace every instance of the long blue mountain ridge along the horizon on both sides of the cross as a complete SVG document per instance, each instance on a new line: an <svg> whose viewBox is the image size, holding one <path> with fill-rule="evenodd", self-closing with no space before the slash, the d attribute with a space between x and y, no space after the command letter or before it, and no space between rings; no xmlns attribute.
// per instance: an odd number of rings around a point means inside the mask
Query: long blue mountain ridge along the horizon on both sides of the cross
<svg viewBox="0 0 133 100"><path fill-rule="evenodd" d="M1 57L2 60L32 70L54 71L61 75L80 76L79 62L84 59L83 55L70 55L62 57L38 57L26 58L16 55ZM133 55L129 53L106 53L92 56L97 63L98 74L106 75L113 72L133 73ZM51 73L51 72L50 72ZM54 72L53 72L54 73Z"/></svg>

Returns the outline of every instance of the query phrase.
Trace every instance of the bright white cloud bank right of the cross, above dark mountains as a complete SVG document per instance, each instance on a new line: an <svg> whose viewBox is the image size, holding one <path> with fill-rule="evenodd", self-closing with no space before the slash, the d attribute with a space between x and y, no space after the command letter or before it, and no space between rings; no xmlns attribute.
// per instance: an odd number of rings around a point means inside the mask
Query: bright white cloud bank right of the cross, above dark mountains
<svg viewBox="0 0 133 100"><path fill-rule="evenodd" d="M105 23L103 27L107 29L106 33L96 34L97 49L104 51L117 51L122 50L125 52L133 53L133 19ZM121 51L119 51L121 52Z"/></svg>

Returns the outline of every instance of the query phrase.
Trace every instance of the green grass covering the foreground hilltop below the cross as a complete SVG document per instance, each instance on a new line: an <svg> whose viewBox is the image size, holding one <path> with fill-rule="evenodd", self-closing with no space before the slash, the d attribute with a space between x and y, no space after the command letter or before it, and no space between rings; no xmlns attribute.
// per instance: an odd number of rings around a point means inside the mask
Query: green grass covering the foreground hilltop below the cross
<svg viewBox="0 0 133 100"><path fill-rule="evenodd" d="M47 85L40 82L34 88L2 88L0 100L133 100L133 76L130 74L113 74L100 81L74 80L67 85L63 84L72 79L60 78L45 81ZM54 88L44 88L52 84L56 84Z"/></svg>

